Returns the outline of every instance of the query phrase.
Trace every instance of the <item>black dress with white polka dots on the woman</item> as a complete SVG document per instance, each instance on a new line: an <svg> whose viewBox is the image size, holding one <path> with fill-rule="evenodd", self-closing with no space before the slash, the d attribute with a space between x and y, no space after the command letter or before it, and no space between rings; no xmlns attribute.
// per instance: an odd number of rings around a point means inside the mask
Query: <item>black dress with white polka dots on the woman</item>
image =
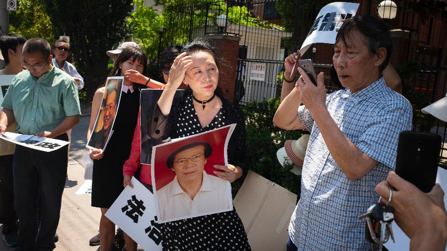
<svg viewBox="0 0 447 251"><path fill-rule="evenodd" d="M236 128L228 142L228 163L246 172L244 115L238 107L223 98L221 100L221 110L205 128L200 125L191 95L174 102L164 136L184 137L235 123ZM167 222L162 224L161 230L163 250L251 250L242 221L234 208L229 212Z"/></svg>

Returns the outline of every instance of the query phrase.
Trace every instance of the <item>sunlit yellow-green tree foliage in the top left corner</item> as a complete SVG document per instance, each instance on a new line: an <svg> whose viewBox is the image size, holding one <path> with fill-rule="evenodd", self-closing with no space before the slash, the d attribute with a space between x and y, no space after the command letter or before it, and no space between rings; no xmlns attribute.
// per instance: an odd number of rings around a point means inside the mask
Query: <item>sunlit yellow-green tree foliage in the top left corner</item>
<svg viewBox="0 0 447 251"><path fill-rule="evenodd" d="M39 0L18 0L17 10L9 11L9 32L25 38L54 40L54 27Z"/></svg>

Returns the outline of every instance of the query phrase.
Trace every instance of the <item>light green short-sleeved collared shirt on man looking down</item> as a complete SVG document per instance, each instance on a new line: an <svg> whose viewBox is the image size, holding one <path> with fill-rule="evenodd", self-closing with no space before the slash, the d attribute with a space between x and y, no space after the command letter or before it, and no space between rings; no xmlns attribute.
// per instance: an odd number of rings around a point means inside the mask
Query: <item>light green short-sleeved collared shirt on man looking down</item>
<svg viewBox="0 0 447 251"><path fill-rule="evenodd" d="M52 131L62 121L80 115L76 82L53 68L39 78L24 70L12 79L1 106L14 112L16 131Z"/></svg>

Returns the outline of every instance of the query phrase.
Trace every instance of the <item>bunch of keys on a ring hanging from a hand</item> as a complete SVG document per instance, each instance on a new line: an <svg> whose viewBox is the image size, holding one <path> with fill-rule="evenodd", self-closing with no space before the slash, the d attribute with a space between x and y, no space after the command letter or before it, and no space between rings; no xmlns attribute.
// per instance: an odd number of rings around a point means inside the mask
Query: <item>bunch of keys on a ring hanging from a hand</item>
<svg viewBox="0 0 447 251"><path fill-rule="evenodd" d="M383 244L391 237L394 242L394 236L391 229L391 222L394 220L394 208L389 205L392 198L392 189L390 189L389 199L386 204L381 203L381 196L378 203L373 204L367 212L359 219L365 218L365 237L372 243L373 250L375 244L378 244L378 250L381 251Z"/></svg>

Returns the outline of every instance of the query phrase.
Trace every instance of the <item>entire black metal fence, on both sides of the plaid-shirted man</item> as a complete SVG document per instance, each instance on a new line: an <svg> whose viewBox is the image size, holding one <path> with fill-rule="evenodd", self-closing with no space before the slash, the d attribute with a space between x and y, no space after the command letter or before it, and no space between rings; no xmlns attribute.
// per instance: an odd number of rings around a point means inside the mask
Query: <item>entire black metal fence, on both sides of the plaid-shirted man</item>
<svg viewBox="0 0 447 251"><path fill-rule="evenodd" d="M184 44L206 34L224 33L239 36L241 39L234 103L245 105L250 101L279 97L284 74L284 59L300 46L299 43L303 40L302 34L307 33L311 25L311 23L308 27L307 23L302 25L301 22L309 20L300 20L298 15L296 15L293 32L286 32L278 26L264 23L265 20L275 23L281 19L274 6L282 1L219 0L186 7L168 4L165 6L166 14L164 30L160 37L160 48L171 44ZM298 8L306 6L306 11L310 11L306 14L312 18L317 15L322 6L332 2L329 0L296 1ZM376 15L379 1L381 0L358 0L360 7L357 14ZM432 127L432 132L442 135L446 142L446 123L420 113L422 107L441 99L447 91L447 57L444 49L447 43L446 0L435 1L435 8L428 0L394 1L397 3L397 17L389 20L388 24L398 44L394 46L394 54L397 56L392 63L396 68L410 61L419 65L415 74L407 78L403 77L404 93L412 95L411 98L408 96L407 98L415 106L416 116L413 119L413 129L427 130ZM296 13L303 14L299 11L298 9ZM227 18L223 19L221 15ZM263 21L259 22L253 17L260 17ZM312 21L313 19L310 20ZM399 38L396 39L396 36ZM335 91L338 87L334 86L329 77L333 49L331 46L322 48L316 53L318 57L314 59L314 62L318 70L325 72L325 85L328 91ZM313 58L313 56L308 57ZM447 160L446 147L443 147L441 156Z"/></svg>

